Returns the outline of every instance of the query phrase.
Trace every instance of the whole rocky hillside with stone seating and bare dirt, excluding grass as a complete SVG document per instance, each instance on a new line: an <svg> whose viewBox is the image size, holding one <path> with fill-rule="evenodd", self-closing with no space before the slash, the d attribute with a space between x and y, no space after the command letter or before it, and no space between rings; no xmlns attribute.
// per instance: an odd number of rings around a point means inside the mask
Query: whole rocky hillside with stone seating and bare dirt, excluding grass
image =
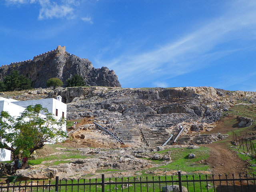
<svg viewBox="0 0 256 192"><path fill-rule="evenodd" d="M8 96L18 100L35 98L54 98L61 95L68 105L68 119L80 121L76 129L68 127L69 138L65 143L58 144L54 152L44 148L39 156L65 154L76 150L87 158L70 159L70 163L47 166L33 166L32 170L19 171L18 174L28 178L49 178L56 175L61 178L78 178L80 176L97 177L102 174L98 170L117 170L105 172L107 177L135 176L142 170L159 166L147 160L153 157L152 152L173 148L160 148L170 134L178 134L178 126L185 130L176 143L178 147L188 147L189 144L207 146L210 157L203 160L208 164L208 172L195 174L239 174L245 173L248 161L242 161L237 155L227 149L232 138L225 143L215 141L226 138L226 133L237 129L239 124L250 125L250 119L242 118L235 125L223 124L222 113L230 107L247 103L256 103L255 92L228 92L207 87L185 88L108 88L108 87L78 87L58 90L38 89L24 92L6 92ZM234 118L234 117L232 117ZM113 140L106 132L92 124L98 122L113 132L125 145ZM172 142L172 141L171 141ZM177 147L177 146L176 146ZM168 155L163 164L171 163ZM43 170L43 171L42 171ZM118 171L122 170L122 171ZM125 170L125 171L124 171ZM146 172L145 172L146 173ZM177 170L164 172L151 170L150 174L177 174Z"/></svg>

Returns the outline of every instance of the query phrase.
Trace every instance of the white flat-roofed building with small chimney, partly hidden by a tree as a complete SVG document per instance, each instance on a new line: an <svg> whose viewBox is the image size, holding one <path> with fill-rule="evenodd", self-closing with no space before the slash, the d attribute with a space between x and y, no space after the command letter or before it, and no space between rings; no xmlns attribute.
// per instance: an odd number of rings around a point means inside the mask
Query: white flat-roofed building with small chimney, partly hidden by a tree
<svg viewBox="0 0 256 192"><path fill-rule="evenodd" d="M52 113L56 119L67 117L67 105L62 102L62 97L57 96L57 99L39 99L18 101L14 99L6 99L0 97L0 112L6 111L13 117L20 116L27 106L41 104L43 108L47 108L48 112ZM62 130L66 132L66 126L62 127ZM6 149L0 149L0 161L11 160L11 151Z"/></svg>

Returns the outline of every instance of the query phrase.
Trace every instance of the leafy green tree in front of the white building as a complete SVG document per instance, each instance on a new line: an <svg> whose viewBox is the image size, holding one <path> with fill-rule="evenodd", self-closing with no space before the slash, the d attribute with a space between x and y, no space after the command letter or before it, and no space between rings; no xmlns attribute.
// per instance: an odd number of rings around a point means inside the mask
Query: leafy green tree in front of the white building
<svg viewBox="0 0 256 192"><path fill-rule="evenodd" d="M44 115L39 114L44 112ZM40 149L46 142L53 142L66 134L62 126L64 118L56 120L52 113L42 105L30 105L18 118L13 118L8 112L0 114L0 148L10 150L14 155L22 151L22 156L29 157L35 150ZM24 169L28 158L21 166Z"/></svg>

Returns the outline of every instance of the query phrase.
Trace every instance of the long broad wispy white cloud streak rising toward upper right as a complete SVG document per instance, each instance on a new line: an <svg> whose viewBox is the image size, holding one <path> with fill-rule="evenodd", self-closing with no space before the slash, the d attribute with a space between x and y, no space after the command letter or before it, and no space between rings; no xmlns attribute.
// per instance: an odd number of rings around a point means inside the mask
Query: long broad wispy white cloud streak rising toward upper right
<svg viewBox="0 0 256 192"><path fill-rule="evenodd" d="M208 21L198 30L190 32L176 41L158 49L136 55L124 53L107 63L114 68L119 80L130 79L131 76L144 75L144 81L168 76L172 78L206 67L207 61L214 61L237 50L225 50L221 53L214 48L236 39L256 38L256 2L237 1L230 10L218 18ZM246 34L246 35L244 35ZM218 50L219 51L219 50ZM160 73L156 72L162 70ZM134 81L138 81L134 78Z"/></svg>

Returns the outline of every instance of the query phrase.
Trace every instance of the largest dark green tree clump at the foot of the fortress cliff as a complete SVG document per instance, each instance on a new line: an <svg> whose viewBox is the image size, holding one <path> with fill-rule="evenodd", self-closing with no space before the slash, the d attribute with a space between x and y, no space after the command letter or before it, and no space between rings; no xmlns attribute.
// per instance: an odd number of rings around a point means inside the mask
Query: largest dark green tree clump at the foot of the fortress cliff
<svg viewBox="0 0 256 192"><path fill-rule="evenodd" d="M32 81L18 71L12 71L11 74L4 77L4 87L6 91L31 89Z"/></svg>

